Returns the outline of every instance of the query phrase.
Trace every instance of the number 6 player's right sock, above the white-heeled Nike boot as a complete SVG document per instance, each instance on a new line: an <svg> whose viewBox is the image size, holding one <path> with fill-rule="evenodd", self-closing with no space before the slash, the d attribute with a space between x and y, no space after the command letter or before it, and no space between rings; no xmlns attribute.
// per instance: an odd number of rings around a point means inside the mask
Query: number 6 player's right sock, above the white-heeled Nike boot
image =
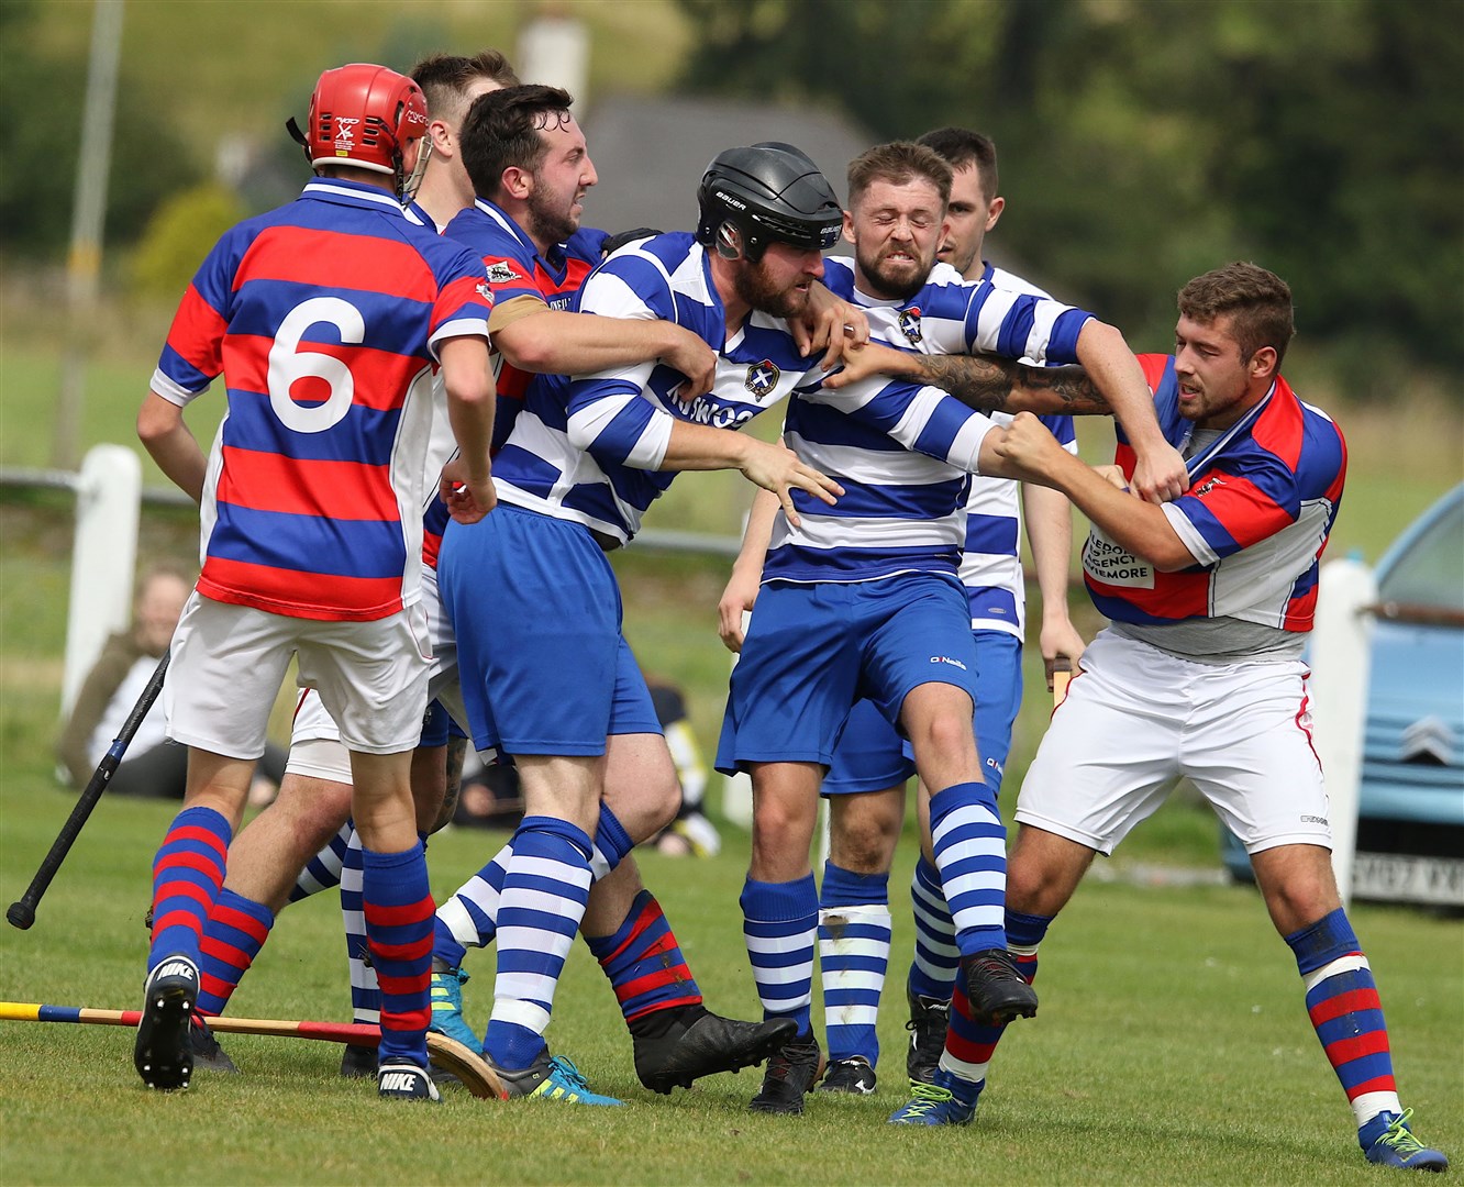
<svg viewBox="0 0 1464 1187"><path fill-rule="evenodd" d="M381 986L381 1061L427 1066L432 890L419 840L400 853L362 849L362 909Z"/></svg>

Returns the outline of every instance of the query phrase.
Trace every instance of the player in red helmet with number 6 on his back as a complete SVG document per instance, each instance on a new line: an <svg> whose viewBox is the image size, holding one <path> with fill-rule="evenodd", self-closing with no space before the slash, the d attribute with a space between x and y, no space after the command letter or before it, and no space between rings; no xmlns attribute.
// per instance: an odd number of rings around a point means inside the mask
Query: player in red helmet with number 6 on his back
<svg viewBox="0 0 1464 1187"><path fill-rule="evenodd" d="M152 1087L192 1076L201 932L294 656L351 751L366 928L385 986L378 1092L436 1099L432 894L408 782L429 657L420 521L400 511L422 502L433 370L463 446L455 512L479 518L495 496L482 262L408 221L398 199L426 124L420 88L392 70L321 76L302 136L316 180L214 247L138 416L149 454L203 506L205 558L165 689L170 736L190 752L184 808L154 865L133 1058ZM220 373L230 411L205 460L183 407Z"/></svg>

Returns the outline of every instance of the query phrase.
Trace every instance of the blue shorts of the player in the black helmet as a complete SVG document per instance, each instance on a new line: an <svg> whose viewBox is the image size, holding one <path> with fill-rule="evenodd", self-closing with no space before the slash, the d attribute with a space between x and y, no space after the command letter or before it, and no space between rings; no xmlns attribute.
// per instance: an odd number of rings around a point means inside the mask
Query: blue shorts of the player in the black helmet
<svg viewBox="0 0 1464 1187"><path fill-rule="evenodd" d="M612 733L662 732L587 528L499 503L448 524L438 584L479 751L597 755Z"/></svg>

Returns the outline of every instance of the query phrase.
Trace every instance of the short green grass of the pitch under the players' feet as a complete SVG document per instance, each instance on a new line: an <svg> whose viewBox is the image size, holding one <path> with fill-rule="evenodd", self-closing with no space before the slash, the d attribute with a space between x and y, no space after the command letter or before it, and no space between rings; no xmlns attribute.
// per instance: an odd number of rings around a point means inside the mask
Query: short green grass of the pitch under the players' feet
<svg viewBox="0 0 1464 1187"><path fill-rule="evenodd" d="M9 751L9 748L7 748ZM7 758L13 757L7 754ZM7 763L7 771L12 767ZM69 799L34 776L0 789L4 893L18 894ZM6 1000L135 1008L146 868L170 809L102 801L31 932L0 932ZM432 843L449 891L501 837ZM909 874L900 853L895 884ZM687 957L725 1013L755 1014L739 937L742 846L676 862L644 858ZM896 896L897 951L909 938ZM1405 1102L1420 1131L1464 1149L1464 925L1359 907L1378 969ZM468 1019L482 1027L490 959L473 954ZM130 1035L0 1023L4 1183L1296 1183L1376 1181L1353 1146L1341 1093L1301 1008L1294 965L1256 896L1239 887L1094 884L1044 948L1042 1011L998 1055L969 1130L884 1126L902 1104L903 1003L886 1000L873 1099L813 1098L801 1120L745 1111L754 1074L672 1098L634 1079L603 978L577 946L550 1039L619 1111L499 1105L449 1095L386 1108L335 1077L338 1049L225 1036L244 1074L201 1073L186 1095L149 1093ZM332 896L291 907L234 1000L247 1017L347 1016Z"/></svg>

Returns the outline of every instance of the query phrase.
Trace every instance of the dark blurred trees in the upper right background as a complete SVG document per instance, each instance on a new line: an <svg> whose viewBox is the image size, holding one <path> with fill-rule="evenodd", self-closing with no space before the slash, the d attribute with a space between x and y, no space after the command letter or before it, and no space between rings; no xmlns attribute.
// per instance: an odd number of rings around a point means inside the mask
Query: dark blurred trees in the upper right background
<svg viewBox="0 0 1464 1187"><path fill-rule="evenodd" d="M1003 246L1132 341L1167 340L1181 281L1250 258L1307 341L1464 364L1454 0L681 3L688 89L836 104L881 139L993 135Z"/></svg>

